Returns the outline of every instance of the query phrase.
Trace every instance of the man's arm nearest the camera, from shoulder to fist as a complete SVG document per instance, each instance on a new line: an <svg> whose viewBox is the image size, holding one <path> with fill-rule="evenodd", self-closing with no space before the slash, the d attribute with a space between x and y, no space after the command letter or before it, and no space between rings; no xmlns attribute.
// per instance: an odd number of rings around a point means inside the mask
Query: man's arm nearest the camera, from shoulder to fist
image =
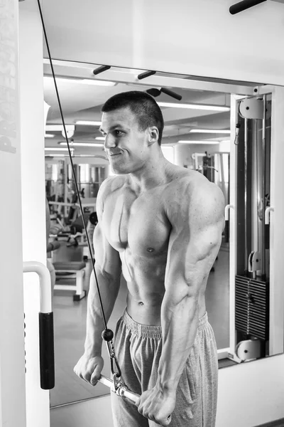
<svg viewBox="0 0 284 427"><path fill-rule="evenodd" d="M178 381L197 334L200 292L224 229L224 196L215 184L193 190L188 186L180 197L168 213L173 228L161 307L163 350L158 381L138 402L138 411L162 426L168 426L168 415L175 408Z"/></svg>

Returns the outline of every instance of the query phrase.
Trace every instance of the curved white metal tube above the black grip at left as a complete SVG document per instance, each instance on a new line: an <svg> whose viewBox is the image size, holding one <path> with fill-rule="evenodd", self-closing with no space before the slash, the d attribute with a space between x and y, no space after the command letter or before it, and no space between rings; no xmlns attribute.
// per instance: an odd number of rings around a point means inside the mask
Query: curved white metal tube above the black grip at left
<svg viewBox="0 0 284 427"><path fill-rule="evenodd" d="M52 312L50 272L43 263L26 261L23 263L23 273L36 273L40 279L40 312Z"/></svg>

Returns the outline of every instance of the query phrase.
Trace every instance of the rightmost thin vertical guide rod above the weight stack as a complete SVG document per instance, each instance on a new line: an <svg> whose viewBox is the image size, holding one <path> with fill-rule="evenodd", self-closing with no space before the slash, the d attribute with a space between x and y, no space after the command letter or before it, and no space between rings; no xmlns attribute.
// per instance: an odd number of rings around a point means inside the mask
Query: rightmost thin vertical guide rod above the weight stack
<svg viewBox="0 0 284 427"><path fill-rule="evenodd" d="M263 198L263 214L262 214L262 239L261 239L261 252L262 252L262 280L266 277L266 95L263 95L263 120L262 120L262 198Z"/></svg>

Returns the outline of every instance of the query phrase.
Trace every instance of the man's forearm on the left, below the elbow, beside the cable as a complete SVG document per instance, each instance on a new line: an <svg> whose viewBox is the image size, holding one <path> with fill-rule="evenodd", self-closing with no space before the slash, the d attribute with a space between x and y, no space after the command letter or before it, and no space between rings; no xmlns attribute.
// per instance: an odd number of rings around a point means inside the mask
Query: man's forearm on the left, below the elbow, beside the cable
<svg viewBox="0 0 284 427"><path fill-rule="evenodd" d="M114 278L109 274L102 273L96 267L99 291L102 298L102 306L106 321L108 322L114 303L119 293L120 277ZM87 302L87 331L84 350L89 356L95 356L102 352L102 331L105 329L102 309L99 302L97 284L92 273L89 283L89 294Z"/></svg>

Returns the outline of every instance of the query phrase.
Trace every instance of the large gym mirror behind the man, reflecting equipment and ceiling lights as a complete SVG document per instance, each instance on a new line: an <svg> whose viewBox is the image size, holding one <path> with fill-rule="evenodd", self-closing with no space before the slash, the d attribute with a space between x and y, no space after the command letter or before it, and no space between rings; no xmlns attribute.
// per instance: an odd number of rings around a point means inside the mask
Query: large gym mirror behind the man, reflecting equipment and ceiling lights
<svg viewBox="0 0 284 427"><path fill-rule="evenodd" d="M231 191L235 192L238 203L236 232L231 233L230 223L226 221L206 291L219 367L271 355L269 225L265 218L270 206L271 96L256 96L254 88L258 83L221 82L158 72L145 77L146 70L60 60L54 69L89 236L92 237L96 226L95 215L93 222L89 218L96 211L97 191L111 174L104 154L104 138L99 132L101 107L116 93L147 91L163 112L165 157L181 167L197 170L217 184L224 193L226 205L231 203ZM58 406L92 399L109 391L102 384L93 388L73 373L84 348L85 294L91 262L48 58L44 60L44 92L48 110L45 182L52 223L50 242L58 242L49 253L56 270L53 295L56 385L50 392L50 404ZM236 158L237 174L232 170ZM227 219L228 209L229 206ZM232 280L230 250L233 247L236 274ZM126 282L122 278L109 321L112 330L125 301ZM103 357L103 374L109 376L109 356L104 347Z"/></svg>

